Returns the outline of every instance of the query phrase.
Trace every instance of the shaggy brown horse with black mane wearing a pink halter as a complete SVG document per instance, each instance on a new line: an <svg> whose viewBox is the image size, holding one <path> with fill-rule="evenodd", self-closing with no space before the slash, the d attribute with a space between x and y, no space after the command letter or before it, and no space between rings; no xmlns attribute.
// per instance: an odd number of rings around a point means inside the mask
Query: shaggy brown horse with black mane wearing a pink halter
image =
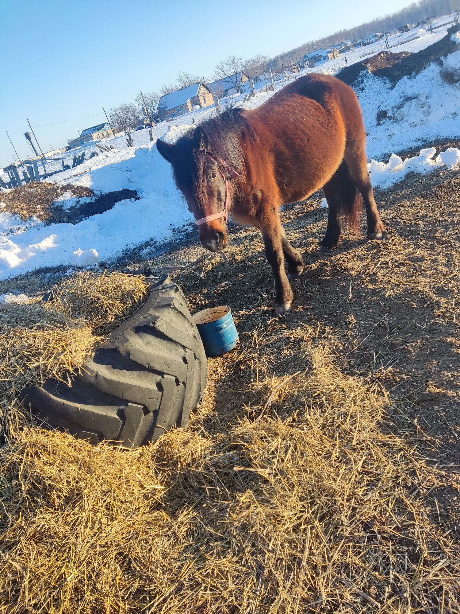
<svg viewBox="0 0 460 614"><path fill-rule="evenodd" d="M362 200L367 236L380 238L385 230L366 168L365 143L355 92L335 77L310 74L252 111L230 109L174 145L158 139L156 147L171 162L207 249L215 252L228 244L228 214L261 230L275 277L275 313L282 314L293 300L284 258L289 279L304 270L301 254L281 225L282 204L323 188L329 215L321 251L339 242L341 216L358 228Z"/></svg>

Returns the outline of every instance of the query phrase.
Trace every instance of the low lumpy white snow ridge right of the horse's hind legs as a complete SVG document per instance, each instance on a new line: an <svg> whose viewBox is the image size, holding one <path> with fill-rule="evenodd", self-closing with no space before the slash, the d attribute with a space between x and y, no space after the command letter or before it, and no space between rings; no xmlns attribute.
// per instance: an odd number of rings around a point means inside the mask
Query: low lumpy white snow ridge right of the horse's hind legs
<svg viewBox="0 0 460 614"><path fill-rule="evenodd" d="M435 168L440 168L440 166L454 168L460 164L460 149L456 149L456 147L449 147L433 159L435 153L435 147L429 147L428 149L421 149L418 155L406 158L404 162L395 153L391 154L388 164L372 159L367 165L370 181L372 181L374 187L389 188L398 181L402 181L411 171L425 174Z"/></svg>

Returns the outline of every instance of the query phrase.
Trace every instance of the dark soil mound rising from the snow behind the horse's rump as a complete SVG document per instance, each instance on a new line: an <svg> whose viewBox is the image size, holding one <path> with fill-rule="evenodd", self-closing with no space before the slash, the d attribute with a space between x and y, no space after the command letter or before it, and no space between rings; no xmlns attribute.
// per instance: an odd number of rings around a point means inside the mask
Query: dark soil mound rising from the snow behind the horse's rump
<svg viewBox="0 0 460 614"><path fill-rule="evenodd" d="M459 26L453 26L448 29L443 39L417 53L391 53L388 51L378 53L372 58L343 68L337 74L337 77L348 85L354 85L359 74L366 71L396 84L402 77L418 74L431 62L439 61L440 58L450 53L456 46L450 37L459 29Z"/></svg>

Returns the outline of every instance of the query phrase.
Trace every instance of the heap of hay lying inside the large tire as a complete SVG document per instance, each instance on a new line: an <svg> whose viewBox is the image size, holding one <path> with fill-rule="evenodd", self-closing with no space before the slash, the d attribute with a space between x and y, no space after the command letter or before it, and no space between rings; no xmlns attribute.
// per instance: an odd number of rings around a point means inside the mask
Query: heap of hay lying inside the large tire
<svg viewBox="0 0 460 614"><path fill-rule="evenodd" d="M51 294L49 303L0 306L0 433L24 424L17 402L24 386L52 376L68 381L102 335L131 317L147 287L141 276L80 273Z"/></svg>

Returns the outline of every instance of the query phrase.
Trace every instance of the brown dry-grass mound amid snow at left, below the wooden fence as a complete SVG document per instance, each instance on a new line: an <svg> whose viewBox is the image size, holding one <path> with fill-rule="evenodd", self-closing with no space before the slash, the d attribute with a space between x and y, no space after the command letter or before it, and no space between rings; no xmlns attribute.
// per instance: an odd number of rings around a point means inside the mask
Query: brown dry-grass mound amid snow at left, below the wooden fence
<svg viewBox="0 0 460 614"><path fill-rule="evenodd" d="M24 221L32 216L45 221L58 215L59 208L53 210L53 205L55 200L67 190L71 190L72 194L79 198L94 195L93 190L81 185L58 185L47 181L34 181L2 192L1 201L6 204L6 208L2 211L16 214Z"/></svg>

